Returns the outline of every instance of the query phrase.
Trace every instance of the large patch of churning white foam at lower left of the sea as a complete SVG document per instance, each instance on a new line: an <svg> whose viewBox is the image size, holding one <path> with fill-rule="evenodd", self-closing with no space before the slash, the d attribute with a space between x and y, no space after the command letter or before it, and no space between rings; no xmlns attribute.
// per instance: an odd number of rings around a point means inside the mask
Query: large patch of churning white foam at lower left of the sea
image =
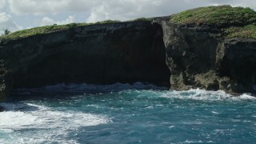
<svg viewBox="0 0 256 144"><path fill-rule="evenodd" d="M27 108L24 111L15 111L15 104L3 105L14 110L0 113L0 134L7 135L5 138L0 137L0 143L76 143L74 140L65 141L70 132L75 132L82 126L97 126L111 122L106 115L56 111L31 103L27 103L26 106L31 106L32 110ZM34 107L38 110L34 110ZM18 133L17 130L26 132Z"/></svg>

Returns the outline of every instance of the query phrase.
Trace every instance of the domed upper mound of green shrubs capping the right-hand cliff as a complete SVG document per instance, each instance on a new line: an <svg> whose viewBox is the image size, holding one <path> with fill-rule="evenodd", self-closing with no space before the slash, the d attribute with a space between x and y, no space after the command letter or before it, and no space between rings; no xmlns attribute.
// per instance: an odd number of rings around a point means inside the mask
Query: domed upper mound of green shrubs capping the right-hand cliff
<svg viewBox="0 0 256 144"><path fill-rule="evenodd" d="M219 27L246 26L256 22L256 12L243 7L208 6L174 14L171 21L177 24L208 24Z"/></svg>

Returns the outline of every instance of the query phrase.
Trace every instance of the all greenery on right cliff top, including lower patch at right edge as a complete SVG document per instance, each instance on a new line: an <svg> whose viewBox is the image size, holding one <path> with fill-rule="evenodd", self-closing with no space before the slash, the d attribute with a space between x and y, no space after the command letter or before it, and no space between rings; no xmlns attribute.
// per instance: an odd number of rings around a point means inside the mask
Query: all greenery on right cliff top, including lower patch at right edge
<svg viewBox="0 0 256 144"><path fill-rule="evenodd" d="M250 8L199 7L174 14L171 21L181 25L215 25L227 38L256 38L256 12Z"/></svg>

